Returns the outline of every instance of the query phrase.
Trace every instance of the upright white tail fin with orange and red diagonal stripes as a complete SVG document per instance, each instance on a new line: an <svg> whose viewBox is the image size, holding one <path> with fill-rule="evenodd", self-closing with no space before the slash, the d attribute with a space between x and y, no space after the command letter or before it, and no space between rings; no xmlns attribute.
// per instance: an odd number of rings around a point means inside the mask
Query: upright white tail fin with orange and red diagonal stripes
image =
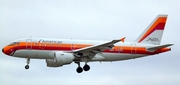
<svg viewBox="0 0 180 85"><path fill-rule="evenodd" d="M158 15L135 42L159 45L161 43L166 19L167 15Z"/></svg>

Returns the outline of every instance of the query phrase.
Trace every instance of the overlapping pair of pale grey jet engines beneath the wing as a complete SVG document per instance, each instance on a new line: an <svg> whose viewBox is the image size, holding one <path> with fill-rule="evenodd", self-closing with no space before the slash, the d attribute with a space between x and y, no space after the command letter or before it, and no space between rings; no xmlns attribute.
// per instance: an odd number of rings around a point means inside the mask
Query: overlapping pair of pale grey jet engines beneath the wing
<svg viewBox="0 0 180 85"><path fill-rule="evenodd" d="M54 55L51 55L54 59L46 59L48 67L59 67L66 64L71 64L75 59L72 53L64 52L54 52Z"/></svg>

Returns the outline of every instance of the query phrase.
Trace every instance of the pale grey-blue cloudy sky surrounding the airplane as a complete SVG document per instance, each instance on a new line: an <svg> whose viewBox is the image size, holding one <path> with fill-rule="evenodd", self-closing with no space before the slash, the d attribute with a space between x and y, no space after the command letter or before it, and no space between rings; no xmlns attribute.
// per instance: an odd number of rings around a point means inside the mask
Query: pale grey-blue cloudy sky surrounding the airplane
<svg viewBox="0 0 180 85"><path fill-rule="evenodd" d="M23 37L133 41L158 14L168 14L162 44L172 51L135 60L89 63L76 73L72 63L46 67L45 60L0 52L1 85L179 85L179 0L0 0L0 48ZM81 64L83 65L83 63Z"/></svg>

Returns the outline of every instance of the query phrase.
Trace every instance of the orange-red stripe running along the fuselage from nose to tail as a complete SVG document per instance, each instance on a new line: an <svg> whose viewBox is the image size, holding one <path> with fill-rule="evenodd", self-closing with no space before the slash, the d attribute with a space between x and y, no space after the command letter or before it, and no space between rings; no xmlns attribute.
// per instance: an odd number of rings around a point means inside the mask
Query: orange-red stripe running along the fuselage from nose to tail
<svg viewBox="0 0 180 85"><path fill-rule="evenodd" d="M32 45L32 46L31 46ZM13 45L13 46L6 46L4 48L5 54L10 55L12 50L24 50L24 49L31 49L31 50L59 50L59 51L72 51L75 49L80 49L84 48L87 46L91 46L92 44L54 44L54 43L37 43L37 42L19 42L19 45ZM153 55L157 53L162 53L169 51L170 49L164 48L164 49L159 49L155 52L148 52L146 51L145 47L135 47L132 48L131 46L115 46L111 50L105 50L103 52L105 53L127 53L131 54L131 52L136 53L136 54L147 54L147 55Z"/></svg>

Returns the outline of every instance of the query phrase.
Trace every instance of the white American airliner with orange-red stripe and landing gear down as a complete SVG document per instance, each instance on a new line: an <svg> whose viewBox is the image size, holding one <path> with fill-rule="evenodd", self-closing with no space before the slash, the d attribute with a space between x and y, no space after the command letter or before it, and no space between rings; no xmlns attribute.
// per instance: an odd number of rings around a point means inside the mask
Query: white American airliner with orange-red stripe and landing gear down
<svg viewBox="0 0 180 85"><path fill-rule="evenodd" d="M48 67L78 64L77 73L89 71L89 62L112 62L135 59L171 51L169 46L160 45L167 15L158 15L133 42L124 42L125 37L112 41L74 40L51 38L22 38L2 49L8 56L25 58L29 69L30 59L45 59ZM83 68L80 63L84 62Z"/></svg>

